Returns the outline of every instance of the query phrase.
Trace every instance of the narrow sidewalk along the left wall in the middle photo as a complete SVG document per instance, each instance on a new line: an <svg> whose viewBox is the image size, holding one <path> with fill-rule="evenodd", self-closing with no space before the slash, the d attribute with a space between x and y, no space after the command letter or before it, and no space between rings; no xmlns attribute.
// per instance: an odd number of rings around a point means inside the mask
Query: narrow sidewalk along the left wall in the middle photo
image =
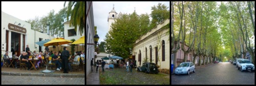
<svg viewBox="0 0 256 86"><path fill-rule="evenodd" d="M99 80L99 68L98 72L96 72L97 67L93 67L93 72L88 74L88 78L86 78L86 84L100 84Z"/></svg>

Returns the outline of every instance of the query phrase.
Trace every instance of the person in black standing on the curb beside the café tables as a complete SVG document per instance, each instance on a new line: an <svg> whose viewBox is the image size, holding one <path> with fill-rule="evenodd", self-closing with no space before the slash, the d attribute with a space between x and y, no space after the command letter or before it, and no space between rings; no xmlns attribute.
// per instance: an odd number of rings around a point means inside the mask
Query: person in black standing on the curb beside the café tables
<svg viewBox="0 0 256 86"><path fill-rule="evenodd" d="M68 58L69 58L70 54L68 51L67 47L63 48L63 51L61 52L60 58L61 58L61 65L63 70L63 73L69 73L68 69L69 69L69 65L68 65Z"/></svg>

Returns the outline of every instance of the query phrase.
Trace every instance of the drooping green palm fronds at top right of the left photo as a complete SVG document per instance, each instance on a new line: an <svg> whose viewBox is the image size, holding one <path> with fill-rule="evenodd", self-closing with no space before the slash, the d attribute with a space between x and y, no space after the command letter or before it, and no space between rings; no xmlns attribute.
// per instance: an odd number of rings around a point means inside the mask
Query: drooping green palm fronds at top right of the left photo
<svg viewBox="0 0 256 86"><path fill-rule="evenodd" d="M66 2L64 3L65 7ZM72 9L72 7L74 8ZM86 18L84 17L84 10L85 10L86 4L85 2L69 2L68 3L68 11L67 11L67 20L69 20L69 16L71 14L70 18L70 27L71 25L75 27L75 31L77 31L77 25L78 31L80 32L80 35L82 35L84 26L86 26Z"/></svg>

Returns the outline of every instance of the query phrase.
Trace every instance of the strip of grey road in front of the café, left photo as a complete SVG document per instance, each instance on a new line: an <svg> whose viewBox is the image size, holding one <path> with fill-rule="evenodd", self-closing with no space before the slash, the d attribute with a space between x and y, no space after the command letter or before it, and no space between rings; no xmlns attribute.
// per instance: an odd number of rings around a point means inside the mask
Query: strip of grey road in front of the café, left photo
<svg viewBox="0 0 256 86"><path fill-rule="evenodd" d="M2 84L84 84L84 78L2 75Z"/></svg>

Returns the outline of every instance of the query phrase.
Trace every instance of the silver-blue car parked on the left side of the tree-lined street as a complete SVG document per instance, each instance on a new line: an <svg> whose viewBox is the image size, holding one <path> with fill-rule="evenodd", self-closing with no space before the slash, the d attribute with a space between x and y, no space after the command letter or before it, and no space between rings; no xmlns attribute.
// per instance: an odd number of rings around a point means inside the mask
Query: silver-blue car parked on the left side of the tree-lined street
<svg viewBox="0 0 256 86"><path fill-rule="evenodd" d="M187 74L189 75L190 72L196 72L196 67L193 62L182 62L180 65L175 69L175 75L178 74Z"/></svg>

